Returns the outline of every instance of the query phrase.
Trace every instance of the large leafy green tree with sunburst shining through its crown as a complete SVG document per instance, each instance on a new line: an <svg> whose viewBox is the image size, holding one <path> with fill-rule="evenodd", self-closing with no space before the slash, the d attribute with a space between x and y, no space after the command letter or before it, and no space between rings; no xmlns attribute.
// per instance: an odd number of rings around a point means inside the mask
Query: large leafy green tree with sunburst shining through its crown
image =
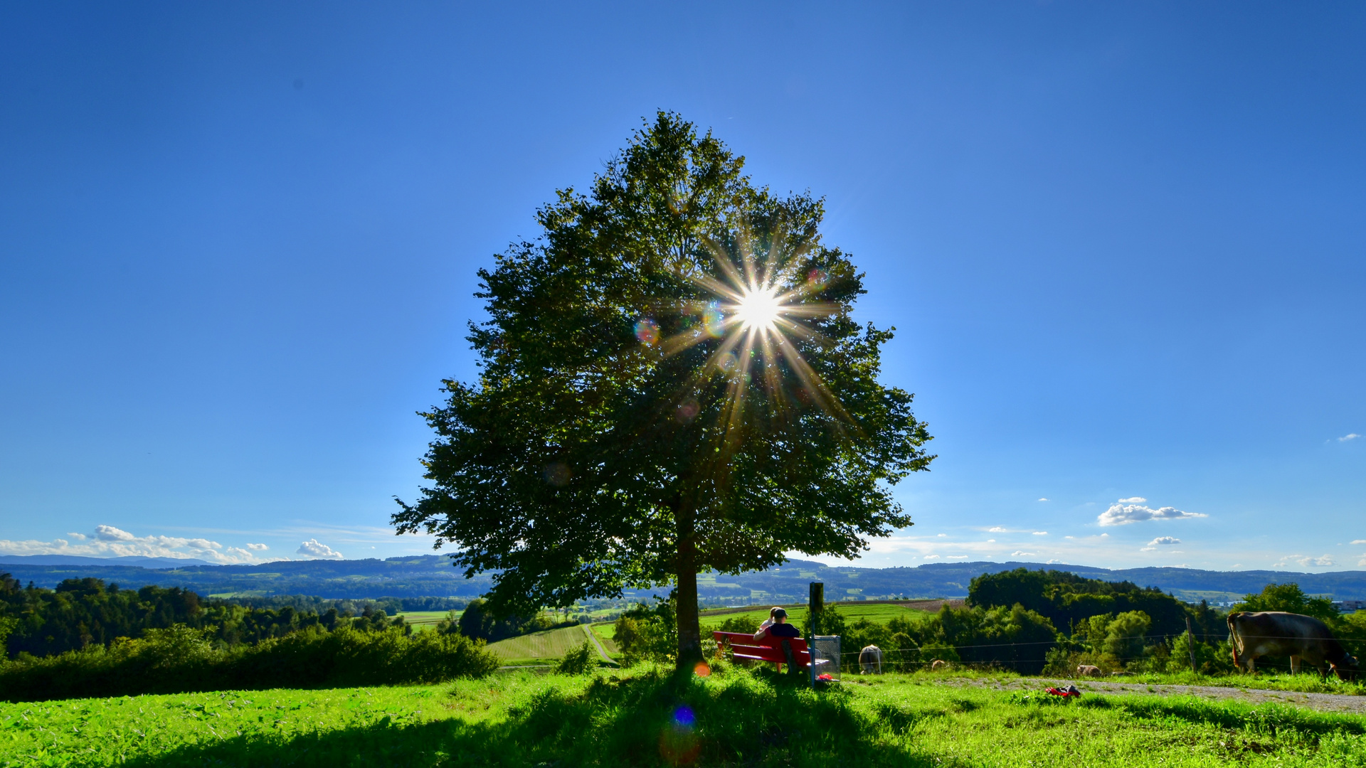
<svg viewBox="0 0 1366 768"><path fill-rule="evenodd" d="M492 609L672 582L686 667L698 571L855 556L911 525L889 485L933 456L878 381L892 335L851 318L863 276L821 242L821 201L743 163L661 112L479 271L479 379L422 414L430 484L393 523L496 571Z"/></svg>

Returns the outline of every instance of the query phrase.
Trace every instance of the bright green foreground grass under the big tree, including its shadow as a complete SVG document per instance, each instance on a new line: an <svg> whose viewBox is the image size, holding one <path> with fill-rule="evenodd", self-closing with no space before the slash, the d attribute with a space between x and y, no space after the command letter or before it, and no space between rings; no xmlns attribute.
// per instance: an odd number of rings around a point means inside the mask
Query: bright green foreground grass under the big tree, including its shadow
<svg viewBox="0 0 1366 768"><path fill-rule="evenodd" d="M441 686L0 704L0 767L1363 767L1366 717L1193 697L811 691L766 671L527 671Z"/></svg>

